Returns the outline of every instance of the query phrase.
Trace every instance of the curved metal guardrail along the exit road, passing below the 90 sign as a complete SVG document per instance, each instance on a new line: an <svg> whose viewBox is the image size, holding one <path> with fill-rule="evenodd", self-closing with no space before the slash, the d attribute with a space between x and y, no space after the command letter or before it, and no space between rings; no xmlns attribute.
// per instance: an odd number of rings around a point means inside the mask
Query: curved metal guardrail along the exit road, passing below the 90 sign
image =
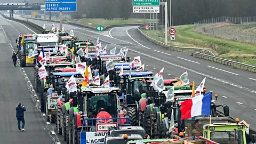
<svg viewBox="0 0 256 144"><path fill-rule="evenodd" d="M144 28L144 26L140 26L140 27L137 28L137 31L138 31L139 34L141 34L142 36L144 36L148 41L150 41L150 42L152 42L152 43L154 43L154 44L156 44L156 45L162 46L162 47L164 47L164 48L167 49L167 50L182 51L182 52L183 52L183 51L188 51L188 52L190 52L190 51L193 51L193 52L199 51L199 52L205 52L205 53L207 53L207 54L210 54L210 55L215 56L215 55L214 55L211 51L209 51L209 50L204 50L204 49L199 49L199 48L193 48L193 47L170 46L170 45L167 45L167 44L165 44L165 43L159 42L159 41L157 41L156 39L151 38L151 37L147 36L145 33L143 33L143 32L140 30L141 28Z"/></svg>

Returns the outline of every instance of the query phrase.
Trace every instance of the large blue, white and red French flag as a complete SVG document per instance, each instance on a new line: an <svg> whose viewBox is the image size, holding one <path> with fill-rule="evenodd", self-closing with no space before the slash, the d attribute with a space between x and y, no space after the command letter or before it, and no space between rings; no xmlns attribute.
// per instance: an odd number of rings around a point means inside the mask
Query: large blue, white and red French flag
<svg viewBox="0 0 256 144"><path fill-rule="evenodd" d="M181 102L180 110L182 116L180 119L211 115L211 101L212 92L209 92Z"/></svg>

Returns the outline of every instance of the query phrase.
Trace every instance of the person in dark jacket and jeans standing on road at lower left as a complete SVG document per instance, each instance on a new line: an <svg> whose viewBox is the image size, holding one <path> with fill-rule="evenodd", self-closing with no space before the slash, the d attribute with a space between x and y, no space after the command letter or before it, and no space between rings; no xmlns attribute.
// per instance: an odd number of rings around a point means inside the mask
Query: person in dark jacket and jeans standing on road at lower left
<svg viewBox="0 0 256 144"><path fill-rule="evenodd" d="M24 111L26 111L26 108L24 107L24 105L21 105L21 103L19 103L18 106L16 107L16 118L18 121L19 132L25 131L25 129L24 129L24 126L25 126ZM20 121L22 122L21 129L20 129Z"/></svg>

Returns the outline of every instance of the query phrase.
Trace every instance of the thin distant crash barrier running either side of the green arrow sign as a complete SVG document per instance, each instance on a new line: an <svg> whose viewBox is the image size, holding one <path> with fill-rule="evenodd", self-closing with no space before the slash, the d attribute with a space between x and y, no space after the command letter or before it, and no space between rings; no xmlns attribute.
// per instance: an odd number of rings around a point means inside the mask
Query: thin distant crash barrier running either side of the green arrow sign
<svg viewBox="0 0 256 144"><path fill-rule="evenodd" d="M25 17L22 17L25 18ZM25 19L32 19L32 20L42 20L42 21L49 21L49 22L60 22L59 20L44 20L44 19L34 19L34 18L25 18ZM90 28L95 30L95 27L92 26L87 26L87 25L83 25L81 23L78 22L68 22L68 21L62 21L62 23L65 24L69 24L69 25L73 25L73 26L80 26L80 27L84 27L84 28ZM131 27L131 26L141 26L141 25L149 25L150 23L128 23L128 24L124 24L124 25L109 25L104 27L104 29L109 29L109 28L115 28L115 27ZM162 23L157 23L159 26L162 25Z"/></svg>

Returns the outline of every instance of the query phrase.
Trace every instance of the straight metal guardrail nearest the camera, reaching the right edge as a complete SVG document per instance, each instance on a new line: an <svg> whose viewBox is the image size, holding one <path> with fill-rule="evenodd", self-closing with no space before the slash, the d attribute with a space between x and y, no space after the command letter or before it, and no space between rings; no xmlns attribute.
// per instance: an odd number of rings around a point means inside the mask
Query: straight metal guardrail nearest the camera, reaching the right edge
<svg viewBox="0 0 256 144"><path fill-rule="evenodd" d="M247 71L251 71L253 73L256 73L256 67L251 66L251 65L247 65L245 63L236 62L236 61L227 60L227 59L222 59L222 58L219 58L219 57L214 57L212 55L207 55L207 54L203 54L203 53L199 53L199 52L193 52L191 54L191 56L195 56L196 58L199 58L199 59L218 62L218 63L226 65L226 66L239 68L239 69L243 69L243 70L247 70Z"/></svg>

